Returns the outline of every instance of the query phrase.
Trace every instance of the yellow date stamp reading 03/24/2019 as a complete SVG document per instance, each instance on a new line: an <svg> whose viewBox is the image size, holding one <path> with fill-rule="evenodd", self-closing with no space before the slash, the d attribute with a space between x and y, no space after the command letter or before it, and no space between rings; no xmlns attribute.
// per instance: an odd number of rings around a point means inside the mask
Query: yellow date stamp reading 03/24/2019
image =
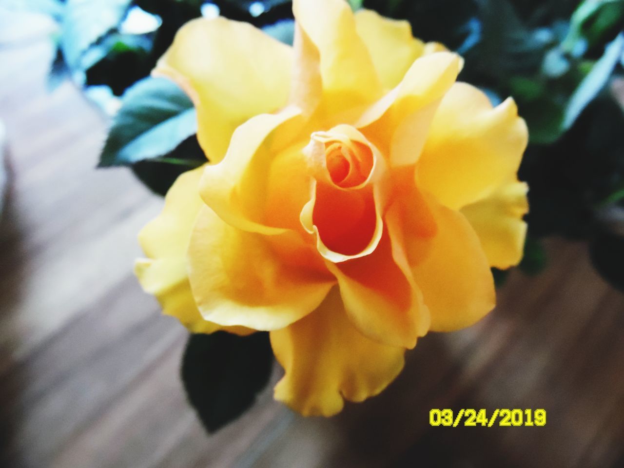
<svg viewBox="0 0 624 468"><path fill-rule="evenodd" d="M457 412L452 409L433 408L429 411L431 426L546 426L545 409L494 409L490 414L485 409L462 408Z"/></svg>

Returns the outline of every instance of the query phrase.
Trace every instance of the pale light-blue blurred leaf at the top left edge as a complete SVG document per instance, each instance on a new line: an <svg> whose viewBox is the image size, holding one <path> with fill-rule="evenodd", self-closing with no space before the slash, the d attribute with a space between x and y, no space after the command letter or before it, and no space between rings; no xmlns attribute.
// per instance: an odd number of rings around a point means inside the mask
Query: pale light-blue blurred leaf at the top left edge
<svg viewBox="0 0 624 468"><path fill-rule="evenodd" d="M119 26L131 0L67 0L63 18L63 53L70 68L100 37Z"/></svg>

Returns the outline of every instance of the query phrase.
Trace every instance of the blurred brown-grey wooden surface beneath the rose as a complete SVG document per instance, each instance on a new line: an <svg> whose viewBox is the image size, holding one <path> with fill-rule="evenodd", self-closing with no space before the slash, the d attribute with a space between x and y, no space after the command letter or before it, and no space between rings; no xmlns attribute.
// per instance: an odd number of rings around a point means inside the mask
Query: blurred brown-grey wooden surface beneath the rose
<svg viewBox="0 0 624 468"><path fill-rule="evenodd" d="M585 247L548 243L479 324L431 334L381 396L305 419L270 389L207 436L178 379L184 329L132 276L162 200L95 170L105 122L69 84L44 89L44 41L0 49L14 172L0 232L0 466L624 466L624 296ZM273 382L278 379L276 369ZM545 427L429 427L432 407L545 408Z"/></svg>

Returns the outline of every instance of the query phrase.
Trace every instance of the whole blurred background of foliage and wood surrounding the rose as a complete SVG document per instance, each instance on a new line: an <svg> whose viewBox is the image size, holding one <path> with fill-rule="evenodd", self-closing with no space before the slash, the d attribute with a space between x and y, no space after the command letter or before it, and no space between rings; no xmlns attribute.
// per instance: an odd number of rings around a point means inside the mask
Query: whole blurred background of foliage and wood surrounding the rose
<svg viewBox="0 0 624 468"><path fill-rule="evenodd" d="M166 154L129 152L141 122L125 119L162 97L146 77L188 19L289 42L290 4L2 0L0 466L624 466L624 3L364 6L461 52L461 79L527 119L529 240L496 272L496 310L422 338L383 394L329 419L274 402L274 366L250 411L208 434L180 380L188 333L132 275L158 193L202 155L192 128ZM544 408L547 424L431 427L432 408Z"/></svg>

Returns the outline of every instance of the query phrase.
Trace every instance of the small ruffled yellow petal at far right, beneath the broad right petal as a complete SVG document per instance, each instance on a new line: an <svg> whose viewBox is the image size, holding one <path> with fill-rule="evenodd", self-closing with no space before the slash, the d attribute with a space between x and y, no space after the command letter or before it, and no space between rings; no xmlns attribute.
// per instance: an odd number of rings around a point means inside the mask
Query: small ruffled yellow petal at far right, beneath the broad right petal
<svg viewBox="0 0 624 468"><path fill-rule="evenodd" d="M479 236L490 266L509 268L522 260L529 211L527 184L505 183L480 202L462 208L462 213Z"/></svg>

